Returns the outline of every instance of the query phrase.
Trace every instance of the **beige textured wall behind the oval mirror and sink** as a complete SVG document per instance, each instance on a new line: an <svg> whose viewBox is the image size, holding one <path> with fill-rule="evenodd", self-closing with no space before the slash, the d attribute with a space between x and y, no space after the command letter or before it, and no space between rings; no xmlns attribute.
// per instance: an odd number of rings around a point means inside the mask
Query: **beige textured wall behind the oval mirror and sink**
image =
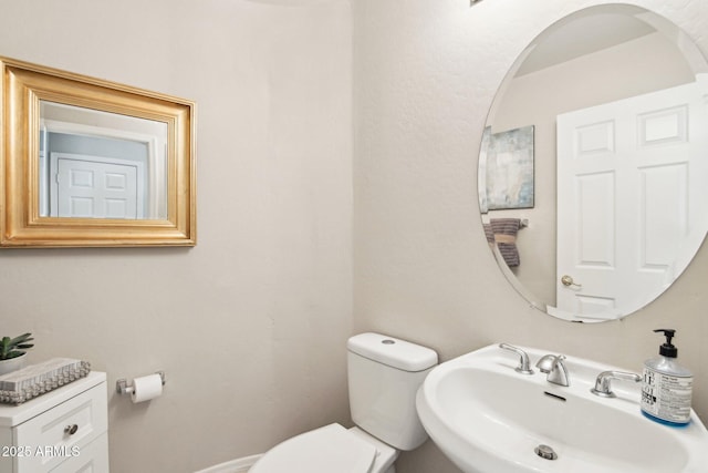
<svg viewBox="0 0 708 473"><path fill-rule="evenodd" d="M582 326L531 308L507 284L483 238L477 154L493 94L543 29L595 0L356 0L354 317L426 343L444 360L488 343L546 348L641 370L652 329L678 330L708 420L704 248L657 301L623 321ZM634 0L683 27L708 52L704 0ZM456 472L428 442L404 473Z"/></svg>

